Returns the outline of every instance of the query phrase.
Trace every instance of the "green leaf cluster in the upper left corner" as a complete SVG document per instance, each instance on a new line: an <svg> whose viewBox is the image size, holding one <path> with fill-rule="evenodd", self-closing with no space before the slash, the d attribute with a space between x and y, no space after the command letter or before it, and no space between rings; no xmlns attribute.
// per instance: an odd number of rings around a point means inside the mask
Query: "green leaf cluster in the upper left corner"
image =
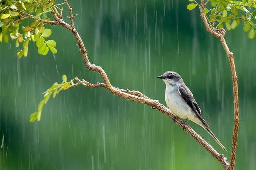
<svg viewBox="0 0 256 170"><path fill-rule="evenodd" d="M23 13L31 14L37 18L51 20L48 14L53 10L55 0L0 0L0 42L9 42L9 38L15 41L16 47L22 49L17 53L18 57L27 57L29 42L36 42L38 54L46 55L49 50L55 54L56 42L46 40L51 35L49 28L37 20L29 19L29 25L22 25L27 19Z"/></svg>

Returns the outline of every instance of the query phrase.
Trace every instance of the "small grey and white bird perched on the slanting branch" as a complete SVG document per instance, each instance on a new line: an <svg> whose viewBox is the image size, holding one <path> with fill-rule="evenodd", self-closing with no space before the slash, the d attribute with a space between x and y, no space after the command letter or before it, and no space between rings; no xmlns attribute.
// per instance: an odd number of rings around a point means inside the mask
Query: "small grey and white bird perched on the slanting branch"
<svg viewBox="0 0 256 170"><path fill-rule="evenodd" d="M220 145L221 148L227 150L223 144L217 139L217 137L210 130L209 125L202 117L201 110L194 99L193 94L189 88L183 82L181 76L173 71L165 72L163 75L157 78L163 79L166 84L165 88L165 102L169 109L179 118L186 119L183 122L183 129L187 120L191 120L196 124L202 126ZM175 121L176 117L173 118Z"/></svg>

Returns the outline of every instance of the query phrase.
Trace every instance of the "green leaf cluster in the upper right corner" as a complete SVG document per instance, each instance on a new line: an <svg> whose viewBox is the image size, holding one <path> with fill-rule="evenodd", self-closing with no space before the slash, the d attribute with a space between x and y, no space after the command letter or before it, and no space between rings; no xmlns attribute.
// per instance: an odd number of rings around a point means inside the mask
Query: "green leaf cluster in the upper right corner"
<svg viewBox="0 0 256 170"><path fill-rule="evenodd" d="M189 0L187 9L192 10L200 6L195 0ZM253 39L256 33L256 0L209 0L210 5L205 7L209 24L217 29L226 28L227 31L234 30L243 22L243 31Z"/></svg>

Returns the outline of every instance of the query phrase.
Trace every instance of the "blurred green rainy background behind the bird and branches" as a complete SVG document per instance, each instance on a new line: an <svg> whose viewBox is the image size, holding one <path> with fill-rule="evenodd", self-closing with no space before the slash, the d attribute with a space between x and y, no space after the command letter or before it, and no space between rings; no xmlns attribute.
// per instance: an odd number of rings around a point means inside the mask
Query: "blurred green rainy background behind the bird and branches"
<svg viewBox="0 0 256 170"><path fill-rule="evenodd" d="M57 1L62 2L62 1ZM229 160L233 91L229 62L197 10L179 0L69 0L91 63L102 66L112 85L136 89L165 104L165 84L156 78L178 72L205 120L228 151L188 122ZM64 13L67 14L67 11ZM68 21L68 20L67 20ZM25 21L27 24L29 21ZM240 129L236 169L256 169L256 41L243 24L226 35L239 84ZM51 28L56 56L29 45L18 59L15 42L0 45L1 170L218 170L200 144L172 120L147 105L82 86L50 99L40 122L29 122L45 92L62 74L102 82L85 68L73 35Z"/></svg>

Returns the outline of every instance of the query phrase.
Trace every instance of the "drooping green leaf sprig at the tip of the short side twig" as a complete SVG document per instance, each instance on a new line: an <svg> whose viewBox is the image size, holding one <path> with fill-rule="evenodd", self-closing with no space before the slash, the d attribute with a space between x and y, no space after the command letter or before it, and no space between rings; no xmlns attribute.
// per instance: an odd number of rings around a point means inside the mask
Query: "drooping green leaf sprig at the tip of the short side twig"
<svg viewBox="0 0 256 170"><path fill-rule="evenodd" d="M55 98L56 94L59 94L60 91L67 90L70 87L72 87L73 85L74 85L73 80L67 82L67 76L64 74L62 76L62 83L61 84L58 84L56 82L49 89L47 89L46 92L44 92L44 94L45 94L44 99L39 103L37 112L32 113L30 115L30 122L34 122L35 120L40 121L42 109L43 109L44 105L48 102L51 95L53 95L53 98Z"/></svg>

